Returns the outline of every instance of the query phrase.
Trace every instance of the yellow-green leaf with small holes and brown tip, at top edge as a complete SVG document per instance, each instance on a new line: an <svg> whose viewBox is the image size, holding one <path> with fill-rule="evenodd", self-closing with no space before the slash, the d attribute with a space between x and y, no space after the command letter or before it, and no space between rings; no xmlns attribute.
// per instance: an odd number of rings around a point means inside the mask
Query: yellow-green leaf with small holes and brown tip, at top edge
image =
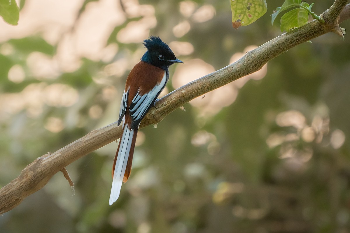
<svg viewBox="0 0 350 233"><path fill-rule="evenodd" d="M266 0L230 0L232 25L235 28L247 26L267 11Z"/></svg>

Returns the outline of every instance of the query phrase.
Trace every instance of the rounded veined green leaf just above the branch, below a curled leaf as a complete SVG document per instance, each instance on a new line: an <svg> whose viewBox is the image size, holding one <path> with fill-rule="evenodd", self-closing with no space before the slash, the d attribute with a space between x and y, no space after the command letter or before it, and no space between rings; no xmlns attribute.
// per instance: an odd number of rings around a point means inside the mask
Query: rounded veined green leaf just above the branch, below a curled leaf
<svg viewBox="0 0 350 233"><path fill-rule="evenodd" d="M289 31L290 29L299 28L307 23L309 13L303 8L296 8L287 12L281 17L281 31Z"/></svg>

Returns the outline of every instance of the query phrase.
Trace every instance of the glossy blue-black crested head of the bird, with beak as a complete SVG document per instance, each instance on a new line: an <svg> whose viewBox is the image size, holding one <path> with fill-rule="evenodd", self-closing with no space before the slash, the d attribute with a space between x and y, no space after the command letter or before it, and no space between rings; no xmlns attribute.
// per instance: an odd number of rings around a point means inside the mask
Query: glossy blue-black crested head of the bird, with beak
<svg viewBox="0 0 350 233"><path fill-rule="evenodd" d="M167 70L174 63L183 63L176 59L173 51L159 37L151 36L144 40L144 45L147 48L141 61L145 61L154 66Z"/></svg>

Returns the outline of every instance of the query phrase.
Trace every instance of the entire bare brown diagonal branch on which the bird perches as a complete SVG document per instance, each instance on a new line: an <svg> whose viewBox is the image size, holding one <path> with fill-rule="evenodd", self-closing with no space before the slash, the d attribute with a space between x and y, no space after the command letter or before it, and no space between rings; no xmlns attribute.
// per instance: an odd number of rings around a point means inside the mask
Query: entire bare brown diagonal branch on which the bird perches
<svg viewBox="0 0 350 233"><path fill-rule="evenodd" d="M150 109L140 127L156 124L195 97L260 70L268 61L298 44L331 31L343 36L344 31L338 25L350 18L350 4L346 5L347 1L336 0L331 8L322 14L325 24L314 20L297 30L282 34L257 49L247 52L235 63L192 81L164 96L157 102L156 108ZM115 122L91 131L55 153L49 153L34 160L22 170L16 179L0 189L0 214L13 209L24 198L44 187L54 174L70 163L119 138L121 132L121 127L118 127Z"/></svg>

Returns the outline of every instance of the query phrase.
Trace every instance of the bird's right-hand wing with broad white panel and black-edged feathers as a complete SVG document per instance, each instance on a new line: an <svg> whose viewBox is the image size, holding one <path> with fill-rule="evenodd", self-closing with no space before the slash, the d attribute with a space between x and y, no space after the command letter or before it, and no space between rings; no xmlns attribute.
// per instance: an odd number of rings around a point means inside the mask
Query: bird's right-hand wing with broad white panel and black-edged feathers
<svg viewBox="0 0 350 233"><path fill-rule="evenodd" d="M129 107L130 116L132 118L131 129L135 129L138 127L142 118L144 118L149 108L152 107L152 104L157 99L161 91L164 89L168 77L168 72L164 72L164 76L161 82L159 82L150 91L144 94L141 94L139 90L135 97L132 99Z"/></svg>

